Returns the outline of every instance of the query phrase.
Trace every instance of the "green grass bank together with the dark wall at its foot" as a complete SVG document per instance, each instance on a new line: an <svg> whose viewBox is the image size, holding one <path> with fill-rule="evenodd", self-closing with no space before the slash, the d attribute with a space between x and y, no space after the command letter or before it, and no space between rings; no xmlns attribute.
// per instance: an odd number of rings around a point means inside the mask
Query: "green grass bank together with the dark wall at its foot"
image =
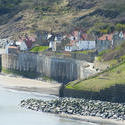
<svg viewBox="0 0 125 125"><path fill-rule="evenodd" d="M96 76L68 83L64 97L125 103L125 62Z"/></svg>

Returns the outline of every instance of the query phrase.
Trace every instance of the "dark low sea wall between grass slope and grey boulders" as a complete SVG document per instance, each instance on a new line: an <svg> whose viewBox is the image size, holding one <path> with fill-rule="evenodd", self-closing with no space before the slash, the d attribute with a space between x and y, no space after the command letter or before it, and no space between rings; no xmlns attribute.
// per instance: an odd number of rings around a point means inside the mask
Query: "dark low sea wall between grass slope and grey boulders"
<svg viewBox="0 0 125 125"><path fill-rule="evenodd" d="M62 86L62 88L63 90L60 92L60 96L63 97L74 97L125 103L125 85L123 84L117 84L115 86L111 86L110 88L100 90L99 92L67 89L64 86Z"/></svg>

